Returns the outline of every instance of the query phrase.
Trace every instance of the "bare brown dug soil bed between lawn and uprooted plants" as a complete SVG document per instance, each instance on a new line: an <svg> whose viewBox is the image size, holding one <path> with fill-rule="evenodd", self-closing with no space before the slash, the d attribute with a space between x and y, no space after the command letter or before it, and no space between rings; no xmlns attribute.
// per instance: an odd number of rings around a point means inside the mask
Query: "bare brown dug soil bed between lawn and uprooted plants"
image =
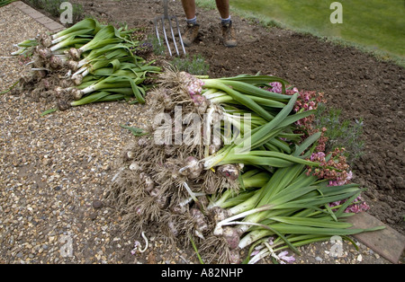
<svg viewBox="0 0 405 282"><path fill-rule="evenodd" d="M84 1L85 15L102 22L126 22L147 27L163 13L160 1ZM169 13L184 25L180 2L170 2ZM405 234L405 70L356 48L338 46L308 34L265 28L233 15L238 47L221 44L219 13L199 10L200 35L190 55L201 54L209 75L277 75L300 90L324 92L329 106L342 109L343 118L364 119L365 154L353 167L355 182L367 190L368 211Z"/></svg>

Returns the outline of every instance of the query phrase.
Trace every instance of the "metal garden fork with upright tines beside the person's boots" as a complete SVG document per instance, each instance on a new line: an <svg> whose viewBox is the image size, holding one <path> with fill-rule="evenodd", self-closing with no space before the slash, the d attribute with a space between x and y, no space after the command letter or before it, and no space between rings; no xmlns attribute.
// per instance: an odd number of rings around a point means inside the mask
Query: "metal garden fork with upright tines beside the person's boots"
<svg viewBox="0 0 405 282"><path fill-rule="evenodd" d="M177 56L180 56L180 53L179 53L178 48L177 48L177 42L175 41L175 31L173 31L172 22L175 22L175 28L177 29L177 32L178 32L178 38L180 40L180 45L181 45L181 47L183 49L183 53L185 55L184 43L183 43L183 39L182 39L182 34L180 32L180 27L178 25L177 17L168 14L167 2L168 2L168 0L163 0L163 12L164 12L163 15L158 16L158 17L156 17L154 19L157 40L159 42L159 45L162 45L162 42L160 40L160 35L159 35L159 29L160 29L160 26L161 26L161 28L163 29L163 35L165 37L167 49L168 49L168 51L170 53L170 56L173 56L172 49L170 47L170 43L169 43L169 40L167 39L167 33L166 33L166 24L165 24L165 22L168 22L168 26L170 28L173 43L175 45L175 53L177 54Z"/></svg>

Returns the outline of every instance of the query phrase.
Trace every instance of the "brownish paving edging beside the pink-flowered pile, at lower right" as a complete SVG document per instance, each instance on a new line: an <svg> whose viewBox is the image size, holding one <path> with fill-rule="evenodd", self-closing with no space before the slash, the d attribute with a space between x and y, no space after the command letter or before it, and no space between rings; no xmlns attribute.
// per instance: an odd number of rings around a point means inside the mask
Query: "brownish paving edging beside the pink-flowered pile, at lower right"
<svg viewBox="0 0 405 282"><path fill-rule="evenodd" d="M347 219L353 225L353 228L371 228L384 225L374 216L367 213L359 213L356 216L350 216ZM379 253L385 259L392 263L399 263L402 251L405 249L405 236L385 225L383 230L365 232L353 235L359 242Z"/></svg>

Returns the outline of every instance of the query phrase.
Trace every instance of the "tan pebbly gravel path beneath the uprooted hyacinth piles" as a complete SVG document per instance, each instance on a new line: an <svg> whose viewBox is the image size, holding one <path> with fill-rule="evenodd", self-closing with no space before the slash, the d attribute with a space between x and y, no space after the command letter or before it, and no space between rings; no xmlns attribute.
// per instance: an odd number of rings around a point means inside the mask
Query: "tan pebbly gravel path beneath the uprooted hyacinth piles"
<svg viewBox="0 0 405 282"><path fill-rule="evenodd" d="M14 8L0 13L0 92L29 71L9 53L44 31ZM104 200L121 148L132 139L121 124L142 127L146 106L113 102L57 111L27 93L0 97L0 263L198 263L191 250L147 234L148 251L132 256L134 238ZM141 238L138 239L142 244ZM330 242L302 248L296 263L388 263L346 243L338 258Z"/></svg>

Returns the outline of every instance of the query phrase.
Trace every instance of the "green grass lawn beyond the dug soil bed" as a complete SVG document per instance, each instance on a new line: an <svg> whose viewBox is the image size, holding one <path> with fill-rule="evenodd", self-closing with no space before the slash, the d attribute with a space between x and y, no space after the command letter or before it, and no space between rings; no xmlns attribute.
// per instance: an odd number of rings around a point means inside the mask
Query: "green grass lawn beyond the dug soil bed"
<svg viewBox="0 0 405 282"><path fill-rule="evenodd" d="M198 0L197 3L214 2ZM356 45L382 57L405 57L404 0L340 0L343 23L331 23L333 0L230 0L232 10L265 23Z"/></svg>

